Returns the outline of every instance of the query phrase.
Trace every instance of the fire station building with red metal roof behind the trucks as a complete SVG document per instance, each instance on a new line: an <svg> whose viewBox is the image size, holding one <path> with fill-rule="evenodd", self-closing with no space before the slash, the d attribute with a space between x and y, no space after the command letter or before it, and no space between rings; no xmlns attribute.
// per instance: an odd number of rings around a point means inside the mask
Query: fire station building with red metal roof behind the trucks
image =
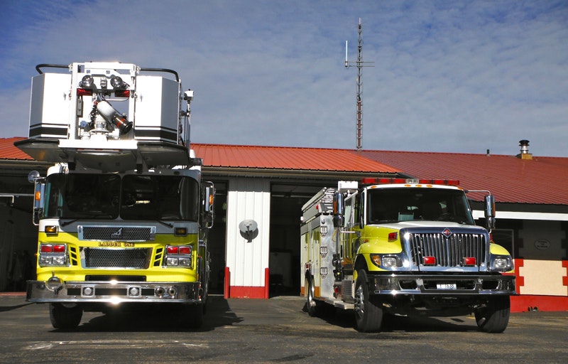
<svg viewBox="0 0 568 364"><path fill-rule="evenodd" d="M48 164L0 139L0 291L23 291L35 274L32 170ZM568 158L192 144L215 184L212 293L267 299L300 294L302 205L324 186L363 177L444 178L496 197L493 240L515 259L511 311L568 310ZM483 201L470 200L484 225Z"/></svg>

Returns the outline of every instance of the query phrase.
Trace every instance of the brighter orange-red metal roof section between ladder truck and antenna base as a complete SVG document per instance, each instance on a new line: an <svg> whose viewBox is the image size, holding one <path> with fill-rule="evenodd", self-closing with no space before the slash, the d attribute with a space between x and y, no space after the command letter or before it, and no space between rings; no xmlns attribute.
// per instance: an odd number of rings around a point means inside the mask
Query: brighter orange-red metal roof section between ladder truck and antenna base
<svg viewBox="0 0 568 364"><path fill-rule="evenodd" d="M397 173L398 168L371 161L347 149L295 148L281 146L236 146L192 144L204 166L271 168L304 171Z"/></svg>

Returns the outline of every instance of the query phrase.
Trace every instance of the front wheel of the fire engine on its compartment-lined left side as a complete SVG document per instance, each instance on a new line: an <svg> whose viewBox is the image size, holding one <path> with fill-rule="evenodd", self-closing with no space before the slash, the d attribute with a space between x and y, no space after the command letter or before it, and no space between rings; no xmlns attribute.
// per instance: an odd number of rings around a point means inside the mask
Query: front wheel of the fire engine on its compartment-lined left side
<svg viewBox="0 0 568 364"><path fill-rule="evenodd" d="M365 333L381 331L383 309L376 297L369 295L365 269L357 272L355 282L355 321L357 330Z"/></svg>

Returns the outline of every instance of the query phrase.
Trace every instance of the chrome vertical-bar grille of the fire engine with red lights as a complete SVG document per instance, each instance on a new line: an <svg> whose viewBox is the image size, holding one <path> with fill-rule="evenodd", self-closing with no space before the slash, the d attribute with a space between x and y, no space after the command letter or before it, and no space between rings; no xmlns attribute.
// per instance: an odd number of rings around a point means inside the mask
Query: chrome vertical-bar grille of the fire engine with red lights
<svg viewBox="0 0 568 364"><path fill-rule="evenodd" d="M417 266L423 265L424 257L435 257L439 267L464 267L464 258L474 257L479 266L485 263L485 235L452 234L444 237L438 233L412 233L410 254Z"/></svg>

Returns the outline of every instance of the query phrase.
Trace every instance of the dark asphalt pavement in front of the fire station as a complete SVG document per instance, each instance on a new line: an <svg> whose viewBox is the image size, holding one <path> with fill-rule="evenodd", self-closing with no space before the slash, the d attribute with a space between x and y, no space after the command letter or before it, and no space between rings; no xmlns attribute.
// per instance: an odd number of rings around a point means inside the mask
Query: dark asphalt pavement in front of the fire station
<svg viewBox="0 0 568 364"><path fill-rule="evenodd" d="M359 333L350 311L310 317L300 296L211 296L198 330L175 312L86 312L55 330L47 304L0 294L0 363L564 363L568 312L511 314L504 333L481 333L471 316L395 318Z"/></svg>

